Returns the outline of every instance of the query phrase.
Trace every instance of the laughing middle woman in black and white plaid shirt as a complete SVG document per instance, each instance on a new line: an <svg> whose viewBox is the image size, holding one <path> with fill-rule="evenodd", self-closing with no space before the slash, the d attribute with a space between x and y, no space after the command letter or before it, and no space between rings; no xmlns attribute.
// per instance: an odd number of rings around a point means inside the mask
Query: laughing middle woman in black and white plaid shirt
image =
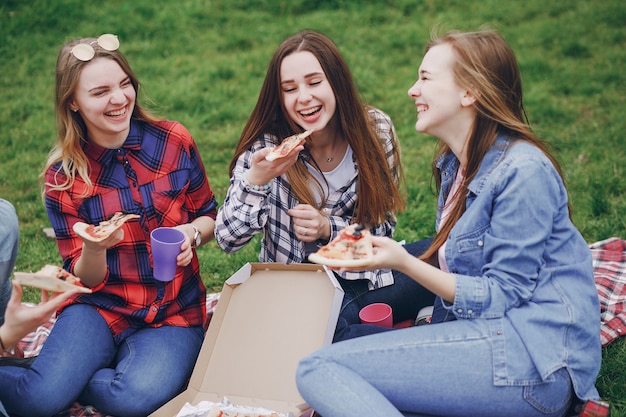
<svg viewBox="0 0 626 417"><path fill-rule="evenodd" d="M285 137L313 130L306 145L265 160ZM404 201L400 150L393 123L358 98L350 70L323 34L303 31L276 50L230 164L231 180L215 224L226 252L258 233L261 262L306 262L351 223L392 236ZM419 245L407 248L419 252ZM345 296L335 341L387 329L360 324L374 302L393 307L396 322L415 319L434 296L389 269L338 276Z"/></svg>

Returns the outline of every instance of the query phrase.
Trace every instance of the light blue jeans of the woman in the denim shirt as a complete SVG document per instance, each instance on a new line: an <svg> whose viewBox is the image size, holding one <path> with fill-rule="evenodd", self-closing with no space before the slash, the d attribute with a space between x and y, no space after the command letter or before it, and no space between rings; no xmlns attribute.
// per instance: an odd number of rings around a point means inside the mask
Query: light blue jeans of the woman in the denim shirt
<svg viewBox="0 0 626 417"><path fill-rule="evenodd" d="M300 361L296 382L324 417L558 417L573 398L565 368L528 386L495 386L493 375L489 325L478 319L334 343Z"/></svg>

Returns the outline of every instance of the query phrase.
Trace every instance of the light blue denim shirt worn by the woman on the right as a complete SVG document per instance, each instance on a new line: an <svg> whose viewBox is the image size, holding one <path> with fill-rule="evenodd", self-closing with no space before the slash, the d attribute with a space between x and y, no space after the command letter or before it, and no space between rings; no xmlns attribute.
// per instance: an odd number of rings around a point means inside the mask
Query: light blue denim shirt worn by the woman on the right
<svg viewBox="0 0 626 417"><path fill-rule="evenodd" d="M441 208L459 161L450 153L437 166ZM496 385L549 381L565 367L576 395L597 399L600 305L591 251L567 201L541 150L498 137L446 244L457 283L454 303L444 308L456 319L489 320Z"/></svg>

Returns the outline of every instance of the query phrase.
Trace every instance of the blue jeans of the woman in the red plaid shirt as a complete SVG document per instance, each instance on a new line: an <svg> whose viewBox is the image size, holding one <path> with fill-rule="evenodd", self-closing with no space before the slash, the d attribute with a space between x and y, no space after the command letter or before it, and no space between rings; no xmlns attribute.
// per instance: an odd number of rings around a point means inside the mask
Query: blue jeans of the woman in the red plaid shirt
<svg viewBox="0 0 626 417"><path fill-rule="evenodd" d="M203 336L202 327L145 327L116 345L94 308L74 304L29 370L0 367L0 400L22 417L51 416L75 401L145 417L185 388Z"/></svg>

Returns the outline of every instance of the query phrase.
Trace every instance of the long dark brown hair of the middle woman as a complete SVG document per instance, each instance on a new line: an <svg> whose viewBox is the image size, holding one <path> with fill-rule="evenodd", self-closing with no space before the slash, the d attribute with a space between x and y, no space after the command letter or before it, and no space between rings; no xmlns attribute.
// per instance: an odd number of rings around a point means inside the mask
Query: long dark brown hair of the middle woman
<svg viewBox="0 0 626 417"><path fill-rule="evenodd" d="M354 221L369 226L383 223L389 215L404 209L404 198L399 185L403 181L399 144L394 146L395 167L390 169L385 149L376 134L368 107L361 102L348 65L336 45L325 35L305 30L285 39L274 53L252 111L230 163L232 175L237 159L264 133L282 141L283 138L301 132L288 116L282 101L280 66L285 57L295 52L311 52L319 61L337 102L338 129L346 139L357 161L359 202ZM305 204L317 206L310 184L320 184L298 160L288 171L287 178L296 198ZM363 201L367 199L367 206ZM324 204L322 202L322 204ZM318 207L321 208L321 207Z"/></svg>

